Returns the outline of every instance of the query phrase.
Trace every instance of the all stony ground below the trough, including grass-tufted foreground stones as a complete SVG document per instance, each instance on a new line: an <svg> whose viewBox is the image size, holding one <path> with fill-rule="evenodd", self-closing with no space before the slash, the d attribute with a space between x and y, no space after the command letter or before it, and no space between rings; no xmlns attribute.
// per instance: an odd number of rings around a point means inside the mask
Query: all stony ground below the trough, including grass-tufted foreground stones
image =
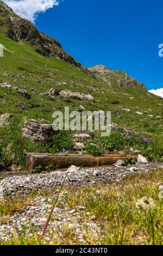
<svg viewBox="0 0 163 256"><path fill-rule="evenodd" d="M60 197L60 202L53 212L44 242L56 244L59 239L62 239L62 236L67 234L68 236L73 236L73 242L77 239L77 243L91 244L91 241L88 242L89 237L98 243L99 236L102 234L102 224L99 226L95 221L95 216L87 211L82 203L81 205L80 203L78 204L78 208L74 207L72 202L68 201L67 203L65 199L68 193L67 190L70 189L76 194L78 188L87 187L89 189L95 185L107 184L107 186L110 186L109 184L119 184L129 174L143 173L148 175L150 170L156 170L160 167L162 167L162 164L158 163L136 164L128 167L82 168L77 172L68 173L65 182L66 190ZM28 239L30 239L34 234L35 237L41 235L43 224L45 224L47 214L65 175L66 172L51 172L13 176L0 181L0 202L3 200L5 203L5 200L7 200L6 204L8 204L7 198L10 198L10 204L12 201L12 206L0 206L1 242L14 239L15 236L24 237L27 235ZM48 191L51 192L49 193ZM96 193L98 193L98 190ZM7 214L5 214L3 207L7 209ZM71 230L73 230L72 234Z"/></svg>

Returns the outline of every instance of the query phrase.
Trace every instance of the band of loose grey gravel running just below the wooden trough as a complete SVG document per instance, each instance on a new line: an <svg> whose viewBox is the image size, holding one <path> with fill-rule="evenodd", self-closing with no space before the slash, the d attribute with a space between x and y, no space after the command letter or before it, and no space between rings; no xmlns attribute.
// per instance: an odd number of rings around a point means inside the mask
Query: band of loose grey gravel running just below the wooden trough
<svg viewBox="0 0 163 256"><path fill-rule="evenodd" d="M135 172L146 172L162 167L161 163L136 164L128 167L93 167L81 168L77 172L69 172L65 181L66 187L90 187L103 182L120 182L127 175ZM46 174L33 174L25 176L13 176L0 181L0 197L4 194L15 196L26 195L30 191L42 191L46 188L61 186L66 172L50 172Z"/></svg>

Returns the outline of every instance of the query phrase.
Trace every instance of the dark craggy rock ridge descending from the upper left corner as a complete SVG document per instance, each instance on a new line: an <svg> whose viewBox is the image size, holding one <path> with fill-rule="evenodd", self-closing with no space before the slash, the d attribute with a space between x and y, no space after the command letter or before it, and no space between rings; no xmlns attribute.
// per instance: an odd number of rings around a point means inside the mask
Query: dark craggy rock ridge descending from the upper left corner
<svg viewBox="0 0 163 256"><path fill-rule="evenodd" d="M36 52L43 56L51 56L64 60L77 69L91 74L88 69L61 48L58 40L39 32L32 23L18 17L2 1L0 1L0 13L2 16L2 19L0 19L0 31L5 36L14 41L27 41L29 45L34 46Z"/></svg>

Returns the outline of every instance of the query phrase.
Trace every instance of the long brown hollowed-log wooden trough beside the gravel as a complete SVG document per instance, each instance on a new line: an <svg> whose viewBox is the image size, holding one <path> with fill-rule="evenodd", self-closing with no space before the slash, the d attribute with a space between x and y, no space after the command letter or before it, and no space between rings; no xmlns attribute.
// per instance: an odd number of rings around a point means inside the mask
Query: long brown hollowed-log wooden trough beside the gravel
<svg viewBox="0 0 163 256"><path fill-rule="evenodd" d="M56 168L68 168L72 165L78 167L108 166L118 160L125 160L126 156L120 154L107 154L103 156L91 155L64 155L64 154L39 154L29 153L27 156L27 169L31 171L36 166L41 166L42 170L53 163Z"/></svg>

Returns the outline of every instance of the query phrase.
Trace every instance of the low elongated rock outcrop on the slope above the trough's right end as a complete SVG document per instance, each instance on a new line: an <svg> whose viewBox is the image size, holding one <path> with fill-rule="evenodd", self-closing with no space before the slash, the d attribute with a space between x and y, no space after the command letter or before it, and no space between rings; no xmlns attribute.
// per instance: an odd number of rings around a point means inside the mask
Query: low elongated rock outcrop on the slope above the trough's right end
<svg viewBox="0 0 163 256"><path fill-rule="evenodd" d="M146 136L144 133L140 133L134 129L130 129L128 127L121 127L117 124L111 123L111 132L117 132L117 131L121 132L124 135L124 139L137 136L139 137L141 143L152 144L152 139Z"/></svg>

